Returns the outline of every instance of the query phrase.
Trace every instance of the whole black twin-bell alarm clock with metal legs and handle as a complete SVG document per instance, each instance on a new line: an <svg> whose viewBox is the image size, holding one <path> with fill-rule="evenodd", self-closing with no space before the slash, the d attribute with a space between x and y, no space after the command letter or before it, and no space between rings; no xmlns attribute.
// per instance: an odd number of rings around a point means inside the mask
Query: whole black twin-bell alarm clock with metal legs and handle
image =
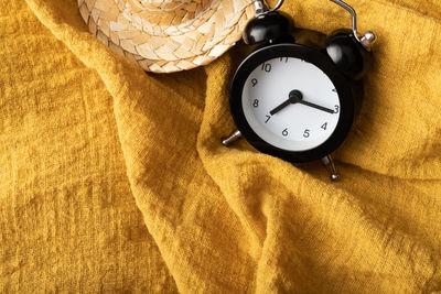
<svg viewBox="0 0 441 294"><path fill-rule="evenodd" d="M331 153L351 130L355 105L370 59L372 32L358 36L354 9L352 30L330 36L294 29L293 21L255 1L256 17L244 42L257 48L237 68L229 106L237 131L223 144L244 137L258 151L301 163L322 160L338 179Z"/></svg>

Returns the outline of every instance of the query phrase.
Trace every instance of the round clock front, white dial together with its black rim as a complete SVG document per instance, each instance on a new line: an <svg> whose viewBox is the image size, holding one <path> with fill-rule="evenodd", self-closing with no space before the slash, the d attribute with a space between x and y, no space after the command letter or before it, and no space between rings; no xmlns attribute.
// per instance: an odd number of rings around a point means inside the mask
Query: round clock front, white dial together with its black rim
<svg viewBox="0 0 441 294"><path fill-rule="evenodd" d="M229 107L257 150L308 162L331 154L346 138L354 87L324 52L273 44L252 52L237 68Z"/></svg>

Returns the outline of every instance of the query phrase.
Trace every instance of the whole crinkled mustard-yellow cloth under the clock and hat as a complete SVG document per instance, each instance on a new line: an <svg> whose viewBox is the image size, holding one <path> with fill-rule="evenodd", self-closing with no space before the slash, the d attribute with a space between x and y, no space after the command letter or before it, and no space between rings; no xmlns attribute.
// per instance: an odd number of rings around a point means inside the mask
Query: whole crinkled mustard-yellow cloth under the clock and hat
<svg viewBox="0 0 441 294"><path fill-rule="evenodd" d="M441 3L349 2L379 41L332 184L219 144L244 45L144 74L76 1L0 0L0 292L439 291ZM349 22L323 0L283 10Z"/></svg>

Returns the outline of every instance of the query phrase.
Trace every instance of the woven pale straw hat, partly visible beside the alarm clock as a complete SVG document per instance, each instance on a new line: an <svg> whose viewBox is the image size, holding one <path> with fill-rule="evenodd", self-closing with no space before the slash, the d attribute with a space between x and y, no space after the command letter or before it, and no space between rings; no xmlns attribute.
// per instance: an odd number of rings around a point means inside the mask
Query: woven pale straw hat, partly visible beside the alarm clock
<svg viewBox="0 0 441 294"><path fill-rule="evenodd" d="M78 0L98 40L146 70L207 64L241 36L252 0Z"/></svg>

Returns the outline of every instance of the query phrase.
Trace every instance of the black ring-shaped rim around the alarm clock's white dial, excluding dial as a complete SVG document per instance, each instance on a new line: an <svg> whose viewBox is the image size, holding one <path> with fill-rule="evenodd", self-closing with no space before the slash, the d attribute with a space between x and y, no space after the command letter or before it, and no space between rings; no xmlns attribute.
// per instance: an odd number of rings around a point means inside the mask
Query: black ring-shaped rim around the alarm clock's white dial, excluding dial
<svg viewBox="0 0 441 294"><path fill-rule="evenodd" d="M277 57L295 57L318 66L335 86L340 98L340 119L334 132L321 145L305 151L279 149L261 139L249 126L243 110L241 92L249 74L263 62ZM289 162L310 162L334 152L345 140L354 120L354 100L351 81L338 70L324 53L300 44L275 44L251 53L237 68L229 89L229 107L236 127L244 138L258 151Z"/></svg>

